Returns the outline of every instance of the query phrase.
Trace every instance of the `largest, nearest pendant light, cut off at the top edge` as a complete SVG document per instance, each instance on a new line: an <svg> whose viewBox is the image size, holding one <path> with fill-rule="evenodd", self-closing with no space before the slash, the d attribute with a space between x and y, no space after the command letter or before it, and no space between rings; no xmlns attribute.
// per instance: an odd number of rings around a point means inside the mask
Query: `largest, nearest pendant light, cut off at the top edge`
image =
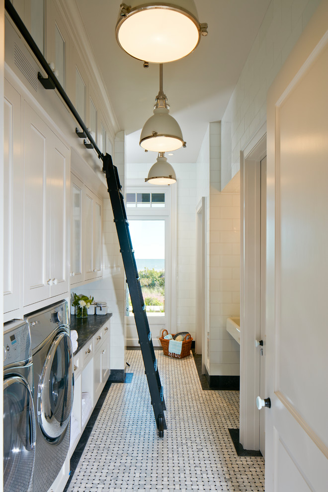
<svg viewBox="0 0 328 492"><path fill-rule="evenodd" d="M116 24L120 47L138 60L167 63L191 53L207 35L197 20L194 0L130 0L121 4Z"/></svg>

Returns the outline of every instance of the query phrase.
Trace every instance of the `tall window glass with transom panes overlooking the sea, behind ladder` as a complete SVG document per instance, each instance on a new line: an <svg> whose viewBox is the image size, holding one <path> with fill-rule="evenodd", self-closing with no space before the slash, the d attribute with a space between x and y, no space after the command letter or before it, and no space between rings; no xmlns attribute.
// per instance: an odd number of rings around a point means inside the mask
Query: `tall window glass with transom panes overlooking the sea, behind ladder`
<svg viewBox="0 0 328 492"><path fill-rule="evenodd" d="M170 190L135 187L127 190L125 198L147 317L150 325L166 328L170 313ZM126 315L133 324L128 289Z"/></svg>

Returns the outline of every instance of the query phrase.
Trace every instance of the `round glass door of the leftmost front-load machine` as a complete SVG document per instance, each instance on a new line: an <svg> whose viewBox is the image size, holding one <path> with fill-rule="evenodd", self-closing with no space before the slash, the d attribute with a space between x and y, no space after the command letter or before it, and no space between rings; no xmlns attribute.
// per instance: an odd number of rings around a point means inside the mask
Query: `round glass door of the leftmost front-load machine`
<svg viewBox="0 0 328 492"><path fill-rule="evenodd" d="M30 490L35 457L33 396L20 376L3 381L3 491Z"/></svg>

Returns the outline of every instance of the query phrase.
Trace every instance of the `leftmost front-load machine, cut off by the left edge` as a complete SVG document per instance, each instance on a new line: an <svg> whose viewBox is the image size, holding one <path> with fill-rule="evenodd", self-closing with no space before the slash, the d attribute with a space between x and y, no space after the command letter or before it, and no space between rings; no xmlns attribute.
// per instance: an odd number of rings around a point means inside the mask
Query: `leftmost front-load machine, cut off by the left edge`
<svg viewBox="0 0 328 492"><path fill-rule="evenodd" d="M35 417L28 324L3 326L3 491L32 491Z"/></svg>

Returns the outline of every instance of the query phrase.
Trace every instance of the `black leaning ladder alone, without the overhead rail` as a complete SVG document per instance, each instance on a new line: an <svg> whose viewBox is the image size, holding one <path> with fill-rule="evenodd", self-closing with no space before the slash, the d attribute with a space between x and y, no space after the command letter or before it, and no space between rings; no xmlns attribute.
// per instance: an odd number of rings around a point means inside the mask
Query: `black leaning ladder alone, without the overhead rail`
<svg viewBox="0 0 328 492"><path fill-rule="evenodd" d="M160 374L157 367L157 359L155 356L153 341L151 339L151 331L149 328L144 298L139 281L137 264L134 257L129 223L126 217L123 195L121 193L122 187L120 185L117 167L114 166L112 158L108 154L103 157L103 171L106 175L108 193L113 209L114 222L129 287L155 420L159 430L159 436L163 437L164 429L167 429L164 417L164 410L166 410L166 407L163 387L161 385Z"/></svg>

